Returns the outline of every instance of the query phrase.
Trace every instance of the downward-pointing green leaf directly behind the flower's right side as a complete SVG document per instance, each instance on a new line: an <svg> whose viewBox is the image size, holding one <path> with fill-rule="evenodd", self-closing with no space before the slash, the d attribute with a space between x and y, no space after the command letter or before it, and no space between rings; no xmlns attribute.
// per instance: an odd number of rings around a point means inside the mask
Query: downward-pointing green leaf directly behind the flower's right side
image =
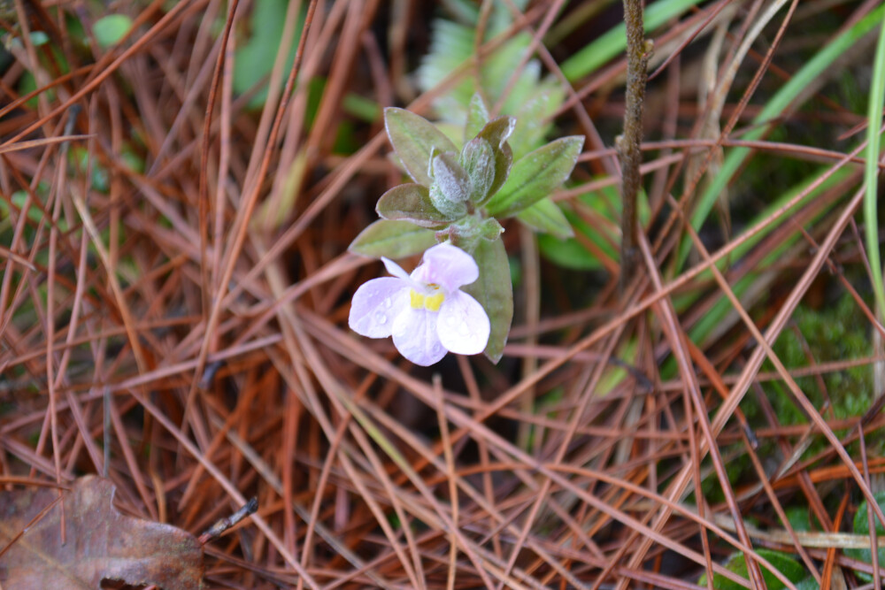
<svg viewBox="0 0 885 590"><path fill-rule="evenodd" d="M492 331L485 353L497 363L504 355L504 344L513 320L513 282L504 241L500 236L494 241L480 240L473 250L473 259L480 267L480 278L463 289L473 295L489 314Z"/></svg>

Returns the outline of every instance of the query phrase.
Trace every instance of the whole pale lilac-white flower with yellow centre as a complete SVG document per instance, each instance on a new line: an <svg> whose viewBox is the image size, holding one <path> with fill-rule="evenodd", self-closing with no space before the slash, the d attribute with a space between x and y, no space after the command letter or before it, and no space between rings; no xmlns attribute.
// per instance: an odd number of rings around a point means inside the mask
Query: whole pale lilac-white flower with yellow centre
<svg viewBox="0 0 885 590"><path fill-rule="evenodd" d="M475 355L489 342L489 316L459 287L480 276L464 250L446 242L427 249L410 276L381 258L393 277L373 279L357 289L350 306L350 329L369 338L393 336L400 354L429 366L445 356Z"/></svg>

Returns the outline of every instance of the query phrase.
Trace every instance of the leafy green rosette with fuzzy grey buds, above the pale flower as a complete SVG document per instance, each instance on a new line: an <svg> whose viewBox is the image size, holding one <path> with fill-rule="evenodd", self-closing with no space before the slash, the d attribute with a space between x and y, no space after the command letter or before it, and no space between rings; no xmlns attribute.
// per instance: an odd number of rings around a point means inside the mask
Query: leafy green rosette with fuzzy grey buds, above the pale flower
<svg viewBox="0 0 885 590"><path fill-rule="evenodd" d="M471 255L479 279L465 287L486 311L491 334L485 353L497 362L513 317L513 291L499 219L540 202L571 175L584 138L547 143L513 161L508 139L513 117L489 120L474 95L458 149L436 126L410 111L388 108L384 124L404 171L413 182L391 188L375 208L381 219L350 244L366 256L404 257L433 243L450 242Z"/></svg>

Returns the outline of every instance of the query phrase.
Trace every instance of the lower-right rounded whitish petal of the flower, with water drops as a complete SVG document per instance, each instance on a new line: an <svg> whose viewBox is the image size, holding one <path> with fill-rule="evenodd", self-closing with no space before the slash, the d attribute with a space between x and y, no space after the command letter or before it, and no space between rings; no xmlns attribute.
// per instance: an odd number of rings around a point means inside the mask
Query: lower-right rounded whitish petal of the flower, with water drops
<svg viewBox="0 0 885 590"><path fill-rule="evenodd" d="M436 329L443 346L458 355L476 355L489 343L486 310L470 295L456 291L445 298Z"/></svg>

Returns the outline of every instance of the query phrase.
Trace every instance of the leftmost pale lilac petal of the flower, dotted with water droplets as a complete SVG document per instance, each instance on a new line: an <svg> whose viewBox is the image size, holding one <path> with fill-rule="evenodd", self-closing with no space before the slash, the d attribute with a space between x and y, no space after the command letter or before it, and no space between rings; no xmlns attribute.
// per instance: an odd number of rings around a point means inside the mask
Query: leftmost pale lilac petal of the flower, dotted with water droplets
<svg viewBox="0 0 885 590"><path fill-rule="evenodd" d="M396 316L409 307L409 289L408 283L393 277L360 285L350 304L350 329L369 338L387 338Z"/></svg>

